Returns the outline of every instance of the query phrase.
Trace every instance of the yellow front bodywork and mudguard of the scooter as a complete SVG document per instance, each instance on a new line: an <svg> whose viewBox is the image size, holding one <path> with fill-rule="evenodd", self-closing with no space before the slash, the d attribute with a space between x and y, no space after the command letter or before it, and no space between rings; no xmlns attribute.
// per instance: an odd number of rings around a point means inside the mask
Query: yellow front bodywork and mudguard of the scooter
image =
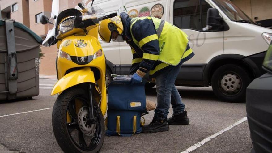
<svg viewBox="0 0 272 153"><path fill-rule="evenodd" d="M101 95L99 94L99 99L97 101L99 102L101 99L100 108L102 114L105 115L107 110L105 83L106 60L102 47L98 41L97 31L98 29L95 27L89 30L88 34L82 31L76 32L73 35L70 34L70 36L68 36L68 34L60 36L62 40L57 44L59 49L57 57L58 82L55 84L51 95L62 93L66 89L80 83L96 83L101 91ZM81 43L81 47L79 47L79 43ZM70 57L77 58L92 56L100 49L102 50L102 56L93 59L87 64L77 64L72 60L60 57L61 51L69 54ZM93 69L95 69L96 72ZM97 75L95 73L99 73L99 79L95 78L95 75ZM95 87L95 89L97 93L99 93L98 88ZM69 118L67 117L67 119Z"/></svg>

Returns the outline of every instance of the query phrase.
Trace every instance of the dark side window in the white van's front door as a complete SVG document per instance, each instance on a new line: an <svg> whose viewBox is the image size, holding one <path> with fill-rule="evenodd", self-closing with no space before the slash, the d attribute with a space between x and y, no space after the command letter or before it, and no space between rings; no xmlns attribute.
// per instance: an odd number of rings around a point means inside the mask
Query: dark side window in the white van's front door
<svg viewBox="0 0 272 153"><path fill-rule="evenodd" d="M206 27L209 8L212 7L205 0L176 0L173 12L174 25L181 29L202 31L202 28Z"/></svg>

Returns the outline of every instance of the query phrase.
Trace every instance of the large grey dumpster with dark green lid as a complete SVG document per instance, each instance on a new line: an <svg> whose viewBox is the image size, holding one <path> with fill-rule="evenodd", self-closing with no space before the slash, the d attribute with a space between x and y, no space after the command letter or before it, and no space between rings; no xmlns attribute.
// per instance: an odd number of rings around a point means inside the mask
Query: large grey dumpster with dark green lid
<svg viewBox="0 0 272 153"><path fill-rule="evenodd" d="M0 100L39 95L41 43L23 24L0 20Z"/></svg>

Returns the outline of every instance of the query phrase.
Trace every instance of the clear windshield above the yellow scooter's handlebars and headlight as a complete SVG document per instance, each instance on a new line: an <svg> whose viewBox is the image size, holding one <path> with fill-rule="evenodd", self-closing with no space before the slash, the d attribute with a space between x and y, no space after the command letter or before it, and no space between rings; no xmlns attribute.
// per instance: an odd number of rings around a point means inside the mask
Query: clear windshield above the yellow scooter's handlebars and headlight
<svg viewBox="0 0 272 153"><path fill-rule="evenodd" d="M81 3L82 6L79 4ZM91 19L95 24L99 23L102 20L105 12L99 6L92 6L92 0L53 0L52 2L52 11L50 13L44 13L45 16L48 17L49 22L48 26L48 33L43 42L44 46L49 46L52 36L56 36L56 27L58 15L67 9L77 9L81 12L82 15L79 17L82 20ZM80 6L80 7L79 7Z"/></svg>

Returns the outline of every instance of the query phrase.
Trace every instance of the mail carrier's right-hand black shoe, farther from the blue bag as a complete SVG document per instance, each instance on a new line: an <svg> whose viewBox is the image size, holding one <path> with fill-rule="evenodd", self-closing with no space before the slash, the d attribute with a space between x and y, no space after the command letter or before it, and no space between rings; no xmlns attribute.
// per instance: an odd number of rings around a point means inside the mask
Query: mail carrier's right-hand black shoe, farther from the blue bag
<svg viewBox="0 0 272 153"><path fill-rule="evenodd" d="M187 111L184 111L179 114L173 114L172 117L167 119L169 125L188 125L190 122Z"/></svg>

